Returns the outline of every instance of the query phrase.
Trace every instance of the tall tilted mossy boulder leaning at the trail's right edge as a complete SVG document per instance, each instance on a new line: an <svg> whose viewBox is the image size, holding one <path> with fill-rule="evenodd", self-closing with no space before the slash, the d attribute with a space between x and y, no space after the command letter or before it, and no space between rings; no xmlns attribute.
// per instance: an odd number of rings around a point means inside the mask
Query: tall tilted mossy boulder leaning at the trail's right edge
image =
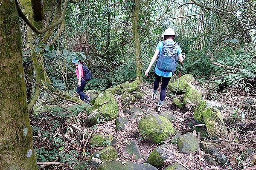
<svg viewBox="0 0 256 170"><path fill-rule="evenodd" d="M224 125L221 112L207 105L207 101L201 101L194 111L196 120L204 123L211 139L227 137L227 127Z"/></svg>

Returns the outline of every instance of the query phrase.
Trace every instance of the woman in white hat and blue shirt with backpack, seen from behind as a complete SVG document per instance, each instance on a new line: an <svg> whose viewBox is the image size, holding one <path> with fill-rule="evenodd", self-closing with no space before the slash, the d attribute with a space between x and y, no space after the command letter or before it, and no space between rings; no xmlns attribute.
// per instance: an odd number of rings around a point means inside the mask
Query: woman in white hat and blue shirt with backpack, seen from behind
<svg viewBox="0 0 256 170"><path fill-rule="evenodd" d="M184 60L181 55L182 50L180 48L180 45L174 41L176 36L177 34L175 34L175 30L172 28L167 28L163 32L162 37L164 41L160 41L157 44L156 51L150 61L150 64L148 65L148 69L145 71L145 76L148 76L150 68L157 59L154 68L155 80L154 89L152 92L152 99L156 99L159 82L162 79L160 100L157 104L158 112L160 112L162 109L163 100L166 96L167 85L177 67L177 59L179 59L180 62L183 62Z"/></svg>

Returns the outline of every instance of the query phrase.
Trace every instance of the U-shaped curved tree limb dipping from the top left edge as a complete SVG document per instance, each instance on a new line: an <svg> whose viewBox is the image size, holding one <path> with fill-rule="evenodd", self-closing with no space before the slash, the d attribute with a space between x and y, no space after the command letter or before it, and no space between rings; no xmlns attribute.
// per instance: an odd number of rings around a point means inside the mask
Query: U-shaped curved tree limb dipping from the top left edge
<svg viewBox="0 0 256 170"><path fill-rule="evenodd" d="M63 6L63 10L62 10L62 13L61 13L61 17L60 17L60 19L59 19L57 22L53 23L51 26L47 26L47 27L44 28L44 29L38 30L38 29L35 28L35 26L26 18L26 16L23 14L23 12L22 12L21 9L20 9L20 6L19 6L19 4L18 4L18 1L15 0L15 4L16 4L16 7L17 7L17 10L18 10L18 13L19 13L20 17L25 21L25 23L26 23L33 31L35 31L35 32L38 33L38 34L43 34L44 32L46 32L46 31L48 31L48 30L54 28L55 26L58 26L58 25L62 22L62 20L63 20L64 17L65 17L65 14L66 14L67 2L68 2L68 0L65 0L64 6Z"/></svg>

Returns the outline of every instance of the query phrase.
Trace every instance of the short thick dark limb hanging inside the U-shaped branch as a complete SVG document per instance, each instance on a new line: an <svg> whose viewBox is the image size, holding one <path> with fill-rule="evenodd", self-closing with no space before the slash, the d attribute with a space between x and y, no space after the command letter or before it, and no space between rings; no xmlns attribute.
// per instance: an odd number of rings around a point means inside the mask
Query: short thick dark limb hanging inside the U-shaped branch
<svg viewBox="0 0 256 170"><path fill-rule="evenodd" d="M34 20L37 22L44 20L44 1L31 0L31 7L34 13Z"/></svg>

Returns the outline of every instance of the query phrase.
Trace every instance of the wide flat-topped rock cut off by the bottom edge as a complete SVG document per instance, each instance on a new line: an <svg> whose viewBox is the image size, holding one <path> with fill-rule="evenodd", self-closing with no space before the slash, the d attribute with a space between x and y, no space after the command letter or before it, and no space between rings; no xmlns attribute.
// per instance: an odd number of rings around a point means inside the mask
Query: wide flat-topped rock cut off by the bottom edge
<svg viewBox="0 0 256 170"><path fill-rule="evenodd" d="M157 168L147 163L138 164L131 161L113 161L101 164L98 170L157 170Z"/></svg>

